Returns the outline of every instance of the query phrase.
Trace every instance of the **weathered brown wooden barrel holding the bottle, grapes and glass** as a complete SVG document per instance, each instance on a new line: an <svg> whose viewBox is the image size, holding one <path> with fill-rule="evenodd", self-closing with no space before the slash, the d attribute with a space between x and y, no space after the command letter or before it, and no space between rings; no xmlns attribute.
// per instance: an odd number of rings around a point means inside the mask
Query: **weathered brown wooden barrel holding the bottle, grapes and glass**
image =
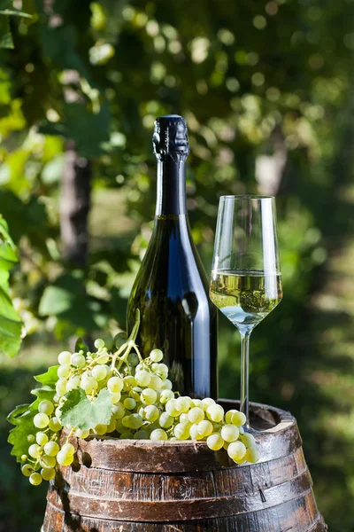
<svg viewBox="0 0 354 532"><path fill-rule="evenodd" d="M296 419L250 408L251 425L262 430L253 465L235 465L204 442L71 438L76 459L51 481L42 532L327 530Z"/></svg>

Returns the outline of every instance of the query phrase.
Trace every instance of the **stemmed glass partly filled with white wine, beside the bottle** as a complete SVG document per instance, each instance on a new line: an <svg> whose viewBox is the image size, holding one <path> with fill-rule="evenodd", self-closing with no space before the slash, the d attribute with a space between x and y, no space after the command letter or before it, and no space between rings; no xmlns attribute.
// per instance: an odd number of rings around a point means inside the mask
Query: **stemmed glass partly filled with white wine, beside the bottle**
<svg viewBox="0 0 354 532"><path fill-rule="evenodd" d="M282 299L273 196L221 196L210 297L241 334L240 411L250 429L250 333Z"/></svg>

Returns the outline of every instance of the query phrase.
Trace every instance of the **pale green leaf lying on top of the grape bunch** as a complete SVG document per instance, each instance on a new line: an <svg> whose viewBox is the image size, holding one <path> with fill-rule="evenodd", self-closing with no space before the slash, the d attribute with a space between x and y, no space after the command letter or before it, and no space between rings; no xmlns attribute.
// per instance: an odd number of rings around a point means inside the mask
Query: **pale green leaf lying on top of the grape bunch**
<svg viewBox="0 0 354 532"><path fill-rule="evenodd" d="M94 401L89 401L81 388L75 388L65 394L65 403L61 407L61 422L81 430L95 428L96 425L109 425L112 418L110 392L104 388Z"/></svg>

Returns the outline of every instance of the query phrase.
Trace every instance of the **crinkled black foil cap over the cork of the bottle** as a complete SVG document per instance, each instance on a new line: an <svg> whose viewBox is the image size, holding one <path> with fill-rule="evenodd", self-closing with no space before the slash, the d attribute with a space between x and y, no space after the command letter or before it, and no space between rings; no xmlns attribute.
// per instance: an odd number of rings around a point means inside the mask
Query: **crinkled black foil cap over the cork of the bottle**
<svg viewBox="0 0 354 532"><path fill-rule="evenodd" d="M165 114L155 121L152 137L158 160L186 160L189 155L187 122L178 114Z"/></svg>

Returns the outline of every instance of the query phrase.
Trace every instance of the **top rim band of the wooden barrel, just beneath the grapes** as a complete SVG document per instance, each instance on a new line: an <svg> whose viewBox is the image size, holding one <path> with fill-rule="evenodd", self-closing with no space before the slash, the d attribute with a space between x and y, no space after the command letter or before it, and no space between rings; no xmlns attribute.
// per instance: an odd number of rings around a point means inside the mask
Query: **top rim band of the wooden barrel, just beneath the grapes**
<svg viewBox="0 0 354 532"><path fill-rule="evenodd" d="M238 402L227 400L219 403L226 411L239 406ZM255 434L260 462L286 457L302 445L296 419L287 411L250 403L250 424L261 431ZM104 469L167 473L235 466L225 450L209 450L205 442L119 440L112 436L95 436L88 440L71 436L70 441L83 465Z"/></svg>

